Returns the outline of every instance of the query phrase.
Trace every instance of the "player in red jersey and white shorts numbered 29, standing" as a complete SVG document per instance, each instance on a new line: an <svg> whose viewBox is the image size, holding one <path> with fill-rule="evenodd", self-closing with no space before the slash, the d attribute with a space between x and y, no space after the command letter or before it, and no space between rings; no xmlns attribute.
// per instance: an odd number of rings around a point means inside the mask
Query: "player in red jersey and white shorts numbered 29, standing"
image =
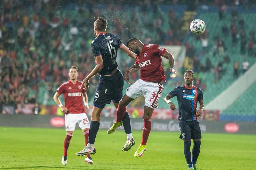
<svg viewBox="0 0 256 170"><path fill-rule="evenodd" d="M55 103L61 108L61 111L65 113L65 126L67 135L64 140L64 153L62 156L62 165L67 165L67 151L70 143L70 139L73 136L73 131L76 128L76 123L83 130L85 138L85 146L88 143L90 124L88 117L85 114L89 110L87 104L86 90L82 88L82 82L77 81L78 68L75 66L69 67L69 81L63 83L57 90L53 97ZM59 96L63 94L65 99L65 106L60 103ZM83 106L84 101L84 106ZM84 160L87 163L92 164L92 158L90 155L86 155Z"/></svg>

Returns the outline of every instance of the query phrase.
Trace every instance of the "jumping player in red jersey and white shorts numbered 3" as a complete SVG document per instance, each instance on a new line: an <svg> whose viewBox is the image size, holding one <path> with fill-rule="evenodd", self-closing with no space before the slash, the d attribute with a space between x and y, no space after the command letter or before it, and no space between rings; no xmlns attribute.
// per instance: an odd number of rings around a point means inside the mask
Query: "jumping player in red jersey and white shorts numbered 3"
<svg viewBox="0 0 256 170"><path fill-rule="evenodd" d="M169 72L176 72L173 68L174 58L172 54L166 51L165 48L156 44L143 44L137 38L130 39L127 42L127 47L130 51L137 54L137 59L135 64L124 73L124 80L130 84L129 73L134 73L139 69L140 79L126 90L126 94L118 104L116 122L108 129L108 133L113 133L116 128L120 127L126 111L126 106L134 99L143 95L145 97L145 106L143 114L144 127L142 131L142 141L140 147L134 154L135 157L141 157L147 147L146 144L151 130L151 116L154 109L158 107L158 100L164 89L162 81L166 82L161 56L169 60Z"/></svg>

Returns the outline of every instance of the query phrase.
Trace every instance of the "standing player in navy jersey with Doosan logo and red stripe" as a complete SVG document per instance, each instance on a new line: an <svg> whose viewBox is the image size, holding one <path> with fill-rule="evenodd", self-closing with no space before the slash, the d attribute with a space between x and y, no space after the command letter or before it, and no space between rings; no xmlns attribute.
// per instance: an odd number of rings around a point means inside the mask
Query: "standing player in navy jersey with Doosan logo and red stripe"
<svg viewBox="0 0 256 170"><path fill-rule="evenodd" d="M193 86L194 72L186 70L184 73L185 84L176 87L168 95L164 97L171 110L175 110L176 106L169 100L177 97L179 104L179 125L180 138L184 142L184 155L187 160L188 169L198 170L196 160L200 153L201 130L197 118L201 117L204 110L203 92L200 88ZM199 110L196 110L197 102L200 103ZM192 149L192 162L190 145L193 139L194 146Z"/></svg>

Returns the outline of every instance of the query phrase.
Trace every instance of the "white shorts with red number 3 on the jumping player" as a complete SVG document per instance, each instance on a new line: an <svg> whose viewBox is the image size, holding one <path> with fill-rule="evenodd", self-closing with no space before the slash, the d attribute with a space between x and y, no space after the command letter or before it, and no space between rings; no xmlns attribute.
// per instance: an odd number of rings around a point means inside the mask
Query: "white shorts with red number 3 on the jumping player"
<svg viewBox="0 0 256 170"><path fill-rule="evenodd" d="M154 83L139 79L126 89L126 95L132 99L143 95L145 97L145 106L155 109L158 107L158 100L163 90L162 82Z"/></svg>

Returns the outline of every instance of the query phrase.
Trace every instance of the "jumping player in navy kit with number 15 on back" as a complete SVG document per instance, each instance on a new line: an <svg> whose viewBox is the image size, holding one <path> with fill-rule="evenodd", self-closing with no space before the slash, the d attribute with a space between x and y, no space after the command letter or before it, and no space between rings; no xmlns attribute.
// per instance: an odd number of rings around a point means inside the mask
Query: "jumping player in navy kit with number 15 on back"
<svg viewBox="0 0 256 170"><path fill-rule="evenodd" d="M92 41L92 51L97 65L92 72L84 78L82 87L88 89L90 78L97 73L99 73L100 78L93 100L89 141L87 146L82 151L77 152L76 155L94 154L96 152L94 142L100 127L100 113L105 105L109 104L111 100L117 108L118 103L123 96L124 77L117 68L118 64L116 62L118 48L123 50L134 60L136 60L137 57L136 54L131 52L116 35L106 33L107 25L108 21L99 17L95 20L93 26L94 34L96 34L97 37ZM127 148L126 145L133 146L135 144L135 141L132 138L130 117L127 111L122 122L127 135L127 142L124 147ZM128 148L128 150L130 148Z"/></svg>

